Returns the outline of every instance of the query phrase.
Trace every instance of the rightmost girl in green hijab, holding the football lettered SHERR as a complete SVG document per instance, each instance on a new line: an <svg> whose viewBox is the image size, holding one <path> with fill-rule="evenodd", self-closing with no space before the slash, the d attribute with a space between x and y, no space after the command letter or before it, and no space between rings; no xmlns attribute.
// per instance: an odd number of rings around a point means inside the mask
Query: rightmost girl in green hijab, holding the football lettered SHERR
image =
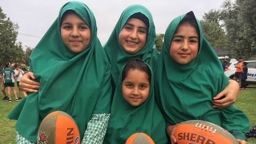
<svg viewBox="0 0 256 144"><path fill-rule="evenodd" d="M193 12L169 24L154 73L156 101L172 143L176 143L176 124L187 120L212 122L228 130L240 144L246 143L247 116L233 105L212 107L213 97L228 80Z"/></svg>

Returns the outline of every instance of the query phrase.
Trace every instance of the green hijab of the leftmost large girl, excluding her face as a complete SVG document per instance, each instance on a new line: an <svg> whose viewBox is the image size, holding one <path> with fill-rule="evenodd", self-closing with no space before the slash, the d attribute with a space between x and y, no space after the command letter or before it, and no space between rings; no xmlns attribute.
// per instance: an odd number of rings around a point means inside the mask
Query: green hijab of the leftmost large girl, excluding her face
<svg viewBox="0 0 256 144"><path fill-rule="evenodd" d="M60 20L67 10L74 10L91 30L89 45L81 53L72 53L61 39ZM92 114L110 113L110 68L94 15L85 4L68 2L61 7L29 64L40 82L39 91L25 97L7 116L18 120L15 128L26 139L36 143L42 119L56 110L74 118L81 140Z"/></svg>

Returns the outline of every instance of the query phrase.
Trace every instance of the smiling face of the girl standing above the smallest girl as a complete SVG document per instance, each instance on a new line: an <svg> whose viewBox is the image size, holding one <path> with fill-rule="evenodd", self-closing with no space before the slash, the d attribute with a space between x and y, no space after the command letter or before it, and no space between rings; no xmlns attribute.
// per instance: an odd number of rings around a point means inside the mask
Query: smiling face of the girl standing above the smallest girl
<svg viewBox="0 0 256 144"><path fill-rule="evenodd" d="M126 53L133 54L146 44L147 26L137 18L129 18L119 34L119 42Z"/></svg>

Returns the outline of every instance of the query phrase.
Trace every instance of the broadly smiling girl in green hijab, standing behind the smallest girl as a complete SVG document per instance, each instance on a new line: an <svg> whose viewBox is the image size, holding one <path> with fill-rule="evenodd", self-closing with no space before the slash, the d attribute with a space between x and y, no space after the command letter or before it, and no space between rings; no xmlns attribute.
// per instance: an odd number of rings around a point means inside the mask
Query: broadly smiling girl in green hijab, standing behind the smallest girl
<svg viewBox="0 0 256 144"><path fill-rule="evenodd" d="M155 49L156 30L151 13L141 5L131 5L121 14L103 46L111 65L112 95L121 68L131 58L139 58L154 69L159 58Z"/></svg>

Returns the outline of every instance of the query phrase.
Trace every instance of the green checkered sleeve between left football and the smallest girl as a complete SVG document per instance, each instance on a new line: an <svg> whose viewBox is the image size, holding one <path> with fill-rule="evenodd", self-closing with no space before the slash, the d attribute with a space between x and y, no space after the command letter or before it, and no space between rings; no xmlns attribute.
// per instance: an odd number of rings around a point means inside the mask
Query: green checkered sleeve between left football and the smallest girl
<svg viewBox="0 0 256 144"><path fill-rule="evenodd" d="M110 114L107 113L91 115L91 120L87 124L81 144L103 143L109 118Z"/></svg>

